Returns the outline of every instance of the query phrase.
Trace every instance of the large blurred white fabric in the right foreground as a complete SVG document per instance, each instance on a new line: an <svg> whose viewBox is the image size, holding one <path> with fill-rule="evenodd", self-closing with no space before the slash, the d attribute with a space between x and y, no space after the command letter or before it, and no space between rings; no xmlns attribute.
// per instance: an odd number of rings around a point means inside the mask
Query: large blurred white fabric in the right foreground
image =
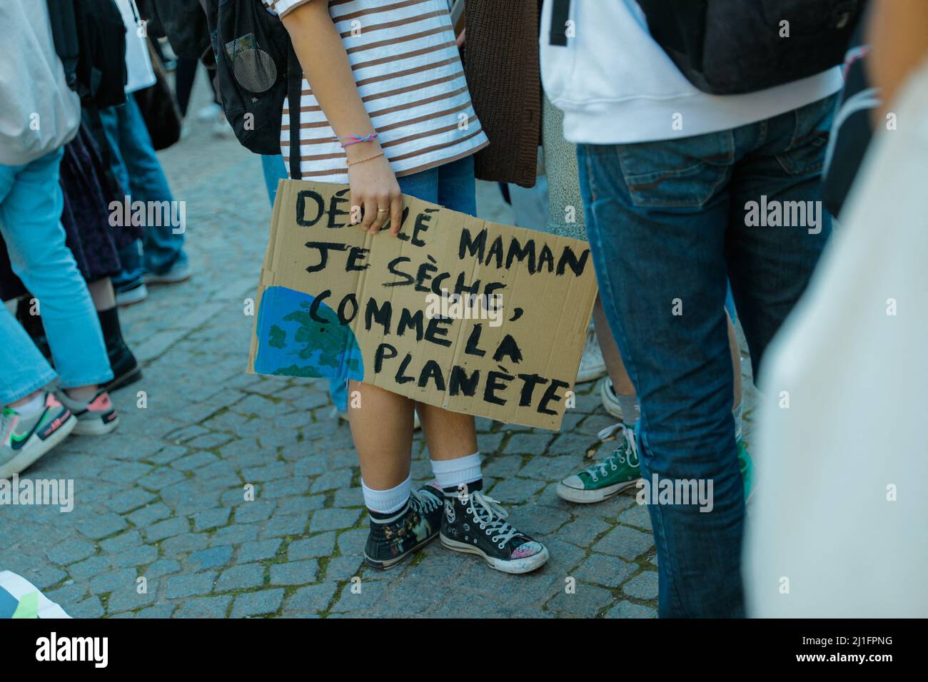
<svg viewBox="0 0 928 682"><path fill-rule="evenodd" d="M928 63L767 355L749 613L928 616Z"/></svg>

